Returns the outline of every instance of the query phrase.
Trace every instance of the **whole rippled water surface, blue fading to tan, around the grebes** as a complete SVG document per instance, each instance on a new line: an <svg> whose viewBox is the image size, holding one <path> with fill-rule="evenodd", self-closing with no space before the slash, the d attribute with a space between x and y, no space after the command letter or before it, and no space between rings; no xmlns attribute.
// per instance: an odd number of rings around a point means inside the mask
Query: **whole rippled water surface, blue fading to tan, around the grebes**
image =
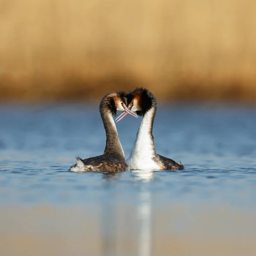
<svg viewBox="0 0 256 256"><path fill-rule="evenodd" d="M97 104L6 104L0 120L1 255L253 255L255 107L160 105L157 153L184 171L68 172L104 151ZM140 120L117 123L126 157Z"/></svg>

